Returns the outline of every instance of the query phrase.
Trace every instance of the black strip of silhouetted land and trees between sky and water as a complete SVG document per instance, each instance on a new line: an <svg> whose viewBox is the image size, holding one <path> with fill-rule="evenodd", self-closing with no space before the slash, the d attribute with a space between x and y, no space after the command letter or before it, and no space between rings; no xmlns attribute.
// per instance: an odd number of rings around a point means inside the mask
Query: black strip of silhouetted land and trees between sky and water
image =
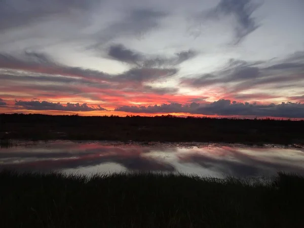
<svg viewBox="0 0 304 228"><path fill-rule="evenodd" d="M0 139L227 142L304 145L304 121L0 115Z"/></svg>

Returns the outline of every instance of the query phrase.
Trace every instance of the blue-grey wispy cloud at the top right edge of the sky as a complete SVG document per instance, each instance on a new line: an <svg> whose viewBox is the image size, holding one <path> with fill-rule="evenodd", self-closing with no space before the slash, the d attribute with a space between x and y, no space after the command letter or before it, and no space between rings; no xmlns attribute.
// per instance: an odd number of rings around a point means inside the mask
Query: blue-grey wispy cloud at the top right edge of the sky
<svg viewBox="0 0 304 228"><path fill-rule="evenodd" d="M234 44L238 44L259 27L252 14L260 5L252 0L221 0L215 8L198 15L196 20L202 23L205 20L219 20L226 16L234 16L237 22L234 28L236 36Z"/></svg>

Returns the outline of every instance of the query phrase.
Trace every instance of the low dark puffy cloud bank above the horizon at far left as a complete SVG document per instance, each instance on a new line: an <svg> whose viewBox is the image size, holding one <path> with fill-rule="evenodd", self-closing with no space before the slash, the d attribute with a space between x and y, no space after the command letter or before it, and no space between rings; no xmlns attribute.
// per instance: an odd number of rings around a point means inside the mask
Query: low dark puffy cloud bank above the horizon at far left
<svg viewBox="0 0 304 228"><path fill-rule="evenodd" d="M60 103L53 103L48 101L15 101L15 105L25 108L27 110L60 110L60 111L103 111L106 110L98 105L97 107L89 107L86 103L67 103L63 106Z"/></svg>

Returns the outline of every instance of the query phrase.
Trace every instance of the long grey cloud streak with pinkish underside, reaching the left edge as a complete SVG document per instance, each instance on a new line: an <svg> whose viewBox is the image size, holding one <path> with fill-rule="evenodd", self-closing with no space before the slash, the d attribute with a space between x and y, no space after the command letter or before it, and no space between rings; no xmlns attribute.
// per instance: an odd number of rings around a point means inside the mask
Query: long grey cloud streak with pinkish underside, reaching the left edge
<svg viewBox="0 0 304 228"><path fill-rule="evenodd" d="M24 69L27 71L59 74L70 78L57 77L54 81L61 82L77 82L94 86L96 83L142 83L151 82L154 80L171 77L178 70L176 68L156 68L156 67L136 67L121 74L107 74L102 71L84 69L81 67L69 67L53 61L49 56L43 53L24 52L19 58L0 54L0 67L11 69ZM75 79L71 77L80 77ZM33 79L32 76L27 76L27 79ZM49 77L44 75L41 79L48 80Z"/></svg>

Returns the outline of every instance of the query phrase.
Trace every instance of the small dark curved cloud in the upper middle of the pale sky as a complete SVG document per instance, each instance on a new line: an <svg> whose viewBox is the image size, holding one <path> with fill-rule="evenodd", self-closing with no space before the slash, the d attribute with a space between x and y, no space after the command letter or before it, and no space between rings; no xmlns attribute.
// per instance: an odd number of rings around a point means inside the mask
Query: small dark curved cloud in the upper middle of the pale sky
<svg viewBox="0 0 304 228"><path fill-rule="evenodd" d="M118 44L110 46L108 56L121 62L135 64L141 67L161 67L177 65L187 61L197 55L193 50L175 53L173 57L165 56L144 56L134 50L127 49L125 46Z"/></svg>

